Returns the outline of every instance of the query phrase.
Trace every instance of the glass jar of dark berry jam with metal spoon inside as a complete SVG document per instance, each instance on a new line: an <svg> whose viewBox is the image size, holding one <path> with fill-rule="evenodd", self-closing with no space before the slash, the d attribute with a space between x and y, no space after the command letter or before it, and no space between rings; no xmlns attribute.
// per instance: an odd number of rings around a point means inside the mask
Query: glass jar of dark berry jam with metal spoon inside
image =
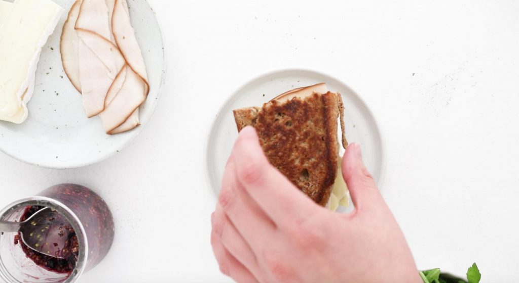
<svg viewBox="0 0 519 283"><path fill-rule="evenodd" d="M46 212L39 212L43 208L50 208L51 213L63 220L46 219ZM38 212L44 214L35 215ZM0 233L1 282L74 282L103 260L114 240L110 208L97 193L84 186L52 186L0 211L3 221L20 222L30 217L38 220L34 226L40 232L51 227L57 229L45 233L42 239L44 245L52 248L39 252L25 245L22 241L25 233L32 237L28 239L38 238L31 227L24 227L19 233ZM39 221L49 221L51 225L47 228ZM34 248L38 247L35 244ZM56 256L52 256L54 252Z"/></svg>

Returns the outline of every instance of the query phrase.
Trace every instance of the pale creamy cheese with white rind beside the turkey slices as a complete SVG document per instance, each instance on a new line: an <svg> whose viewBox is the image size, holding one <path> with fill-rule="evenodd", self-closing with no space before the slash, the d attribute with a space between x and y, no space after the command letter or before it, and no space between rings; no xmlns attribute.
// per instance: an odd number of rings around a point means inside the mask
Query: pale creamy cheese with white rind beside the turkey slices
<svg viewBox="0 0 519 283"><path fill-rule="evenodd" d="M39 55L62 12L51 0L17 0L0 25L0 120L29 115Z"/></svg>

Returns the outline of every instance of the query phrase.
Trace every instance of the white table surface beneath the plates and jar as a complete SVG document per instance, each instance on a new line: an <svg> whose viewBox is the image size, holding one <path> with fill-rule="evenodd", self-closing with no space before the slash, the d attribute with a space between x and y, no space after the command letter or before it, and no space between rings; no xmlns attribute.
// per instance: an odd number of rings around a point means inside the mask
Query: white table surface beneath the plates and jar
<svg viewBox="0 0 519 283"><path fill-rule="evenodd" d="M169 72L140 136L65 171L0 153L2 207L65 182L111 206L115 243L79 282L229 281L209 243L207 136L239 86L293 67L343 80L374 112L388 156L381 190L420 269L461 275L475 261L485 282L516 281L519 2L149 2Z"/></svg>

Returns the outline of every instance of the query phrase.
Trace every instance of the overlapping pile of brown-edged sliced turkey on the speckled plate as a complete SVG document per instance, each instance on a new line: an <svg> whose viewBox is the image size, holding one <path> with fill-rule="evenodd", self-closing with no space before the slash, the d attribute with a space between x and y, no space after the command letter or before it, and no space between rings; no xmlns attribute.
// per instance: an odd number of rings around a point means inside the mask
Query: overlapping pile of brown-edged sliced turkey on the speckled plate
<svg viewBox="0 0 519 283"><path fill-rule="evenodd" d="M140 125L149 85L126 0L76 0L63 26L61 53L88 117L99 115L110 135Z"/></svg>

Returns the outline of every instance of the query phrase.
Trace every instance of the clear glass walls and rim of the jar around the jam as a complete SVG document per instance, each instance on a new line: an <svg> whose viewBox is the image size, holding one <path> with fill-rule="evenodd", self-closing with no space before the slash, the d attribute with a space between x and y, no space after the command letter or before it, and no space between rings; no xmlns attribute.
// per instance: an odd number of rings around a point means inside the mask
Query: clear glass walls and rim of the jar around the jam
<svg viewBox="0 0 519 283"><path fill-rule="evenodd" d="M17 233L3 233L0 234L0 278L6 282L75 282L110 250L114 240L112 213L92 190L74 184L52 186L34 197L8 205L0 212L0 219L19 221L31 206L50 207L70 222L79 244L78 259L70 274L48 271L29 259L20 245L15 245Z"/></svg>

